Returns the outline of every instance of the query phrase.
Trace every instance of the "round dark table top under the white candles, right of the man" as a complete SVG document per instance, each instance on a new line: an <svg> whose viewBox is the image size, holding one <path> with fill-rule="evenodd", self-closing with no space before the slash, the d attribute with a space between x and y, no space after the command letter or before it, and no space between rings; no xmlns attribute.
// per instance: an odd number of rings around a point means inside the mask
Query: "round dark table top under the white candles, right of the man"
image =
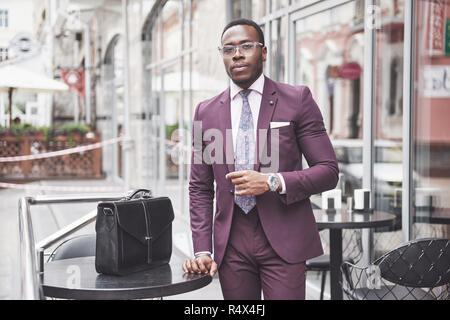
<svg viewBox="0 0 450 320"><path fill-rule="evenodd" d="M357 212L336 209L335 213L327 210L313 210L317 226L325 229L360 229L386 227L394 224L396 216L382 211Z"/></svg>

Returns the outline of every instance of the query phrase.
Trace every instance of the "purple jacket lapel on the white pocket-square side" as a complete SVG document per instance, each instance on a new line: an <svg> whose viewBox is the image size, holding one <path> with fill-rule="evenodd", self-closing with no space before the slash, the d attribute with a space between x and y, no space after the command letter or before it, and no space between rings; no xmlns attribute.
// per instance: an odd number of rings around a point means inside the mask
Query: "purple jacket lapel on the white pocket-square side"
<svg viewBox="0 0 450 320"><path fill-rule="evenodd" d="M278 98L275 86L272 80L265 77L264 91L261 99L261 107L259 109L258 127L257 127L257 161L254 166L255 171L259 171L261 165L261 154L267 145L267 137L270 129L270 120L272 120L273 113L277 106ZM262 130L260 134L260 130ZM262 147L260 149L260 146ZM270 150L267 150L267 154Z"/></svg>

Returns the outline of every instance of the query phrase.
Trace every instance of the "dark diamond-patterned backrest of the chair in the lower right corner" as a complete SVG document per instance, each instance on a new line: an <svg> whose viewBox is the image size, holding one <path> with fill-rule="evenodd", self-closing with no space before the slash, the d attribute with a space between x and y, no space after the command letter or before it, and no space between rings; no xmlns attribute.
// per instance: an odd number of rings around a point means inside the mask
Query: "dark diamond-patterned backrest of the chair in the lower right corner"
<svg viewBox="0 0 450 320"><path fill-rule="evenodd" d="M395 284L434 288L450 284L450 239L410 241L380 257L381 277Z"/></svg>

